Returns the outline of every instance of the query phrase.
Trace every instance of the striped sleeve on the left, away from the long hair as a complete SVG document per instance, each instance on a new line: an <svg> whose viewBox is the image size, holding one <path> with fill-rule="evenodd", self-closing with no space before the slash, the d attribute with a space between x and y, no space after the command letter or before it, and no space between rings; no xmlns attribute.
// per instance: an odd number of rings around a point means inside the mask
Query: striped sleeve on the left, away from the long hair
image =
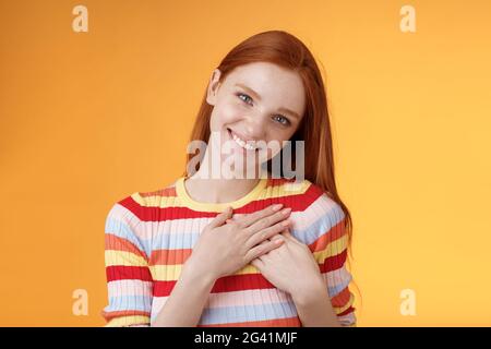
<svg viewBox="0 0 491 349"><path fill-rule="evenodd" d="M105 265L108 304L105 327L149 326L153 279L143 241L135 233L137 218L115 204L106 218Z"/></svg>

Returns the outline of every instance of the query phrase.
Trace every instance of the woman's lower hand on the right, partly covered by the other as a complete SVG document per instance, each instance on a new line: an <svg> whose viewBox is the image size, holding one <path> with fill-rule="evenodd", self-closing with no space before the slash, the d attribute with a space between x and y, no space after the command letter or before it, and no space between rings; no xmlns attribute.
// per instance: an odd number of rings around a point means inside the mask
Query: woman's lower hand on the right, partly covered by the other
<svg viewBox="0 0 491 349"><path fill-rule="evenodd" d="M309 246L298 241L288 229L272 238L272 241L279 240L285 241L282 246L253 260L251 264L271 284L290 293L294 299L322 287L323 278Z"/></svg>

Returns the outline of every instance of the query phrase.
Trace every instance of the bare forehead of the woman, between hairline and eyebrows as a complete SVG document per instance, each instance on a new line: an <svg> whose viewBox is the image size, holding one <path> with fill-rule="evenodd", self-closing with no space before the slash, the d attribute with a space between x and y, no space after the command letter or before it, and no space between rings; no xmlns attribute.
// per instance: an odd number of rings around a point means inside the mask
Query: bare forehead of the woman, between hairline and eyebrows
<svg viewBox="0 0 491 349"><path fill-rule="evenodd" d="M304 87L300 75L268 62L254 62L236 68L224 82L228 88L246 85L261 96L261 103L274 108L288 108L303 113Z"/></svg>

